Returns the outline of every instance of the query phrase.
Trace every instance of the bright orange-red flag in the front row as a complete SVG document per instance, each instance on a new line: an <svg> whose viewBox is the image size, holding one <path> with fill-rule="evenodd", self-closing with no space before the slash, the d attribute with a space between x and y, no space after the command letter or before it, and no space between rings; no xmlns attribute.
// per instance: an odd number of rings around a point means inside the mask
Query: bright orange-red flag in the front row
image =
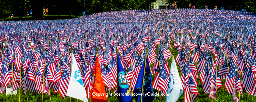
<svg viewBox="0 0 256 102"><path fill-rule="evenodd" d="M92 87L93 90L90 92L92 102L108 102L103 79L101 77L101 69L98 56L96 58L95 68L92 75ZM95 96L95 94L102 94L102 96Z"/></svg>

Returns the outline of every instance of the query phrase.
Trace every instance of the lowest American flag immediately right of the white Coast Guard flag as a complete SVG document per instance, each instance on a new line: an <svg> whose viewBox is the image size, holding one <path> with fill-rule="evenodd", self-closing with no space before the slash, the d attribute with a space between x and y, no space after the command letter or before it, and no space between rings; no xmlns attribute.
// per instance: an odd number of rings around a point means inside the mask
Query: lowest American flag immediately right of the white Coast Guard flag
<svg viewBox="0 0 256 102"><path fill-rule="evenodd" d="M184 69L184 72L185 71L187 71L186 68ZM193 75L188 74L185 82L184 102L194 102L199 93L196 89L196 83L194 82Z"/></svg>

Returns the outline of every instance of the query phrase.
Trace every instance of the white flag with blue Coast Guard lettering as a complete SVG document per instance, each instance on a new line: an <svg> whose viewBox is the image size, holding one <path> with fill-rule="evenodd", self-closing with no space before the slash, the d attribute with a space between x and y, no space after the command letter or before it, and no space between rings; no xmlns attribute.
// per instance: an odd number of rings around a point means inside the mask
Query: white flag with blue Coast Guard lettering
<svg viewBox="0 0 256 102"><path fill-rule="evenodd" d="M167 90L166 102L175 102L183 93L180 75L175 60L172 58L172 65L169 75L169 84Z"/></svg>

